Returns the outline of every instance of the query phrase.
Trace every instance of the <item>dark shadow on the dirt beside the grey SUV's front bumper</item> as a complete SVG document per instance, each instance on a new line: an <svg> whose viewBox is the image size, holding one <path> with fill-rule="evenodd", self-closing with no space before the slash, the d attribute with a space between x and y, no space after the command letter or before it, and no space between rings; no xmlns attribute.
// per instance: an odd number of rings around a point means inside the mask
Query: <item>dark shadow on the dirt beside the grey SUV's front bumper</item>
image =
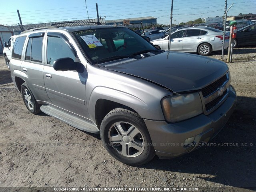
<svg viewBox="0 0 256 192"><path fill-rule="evenodd" d="M155 157L151 162L140 167L199 174L197 179L228 186L255 187L255 105L256 98L238 96L236 109L228 123L209 142L214 146L201 147L194 152L169 160Z"/></svg>

